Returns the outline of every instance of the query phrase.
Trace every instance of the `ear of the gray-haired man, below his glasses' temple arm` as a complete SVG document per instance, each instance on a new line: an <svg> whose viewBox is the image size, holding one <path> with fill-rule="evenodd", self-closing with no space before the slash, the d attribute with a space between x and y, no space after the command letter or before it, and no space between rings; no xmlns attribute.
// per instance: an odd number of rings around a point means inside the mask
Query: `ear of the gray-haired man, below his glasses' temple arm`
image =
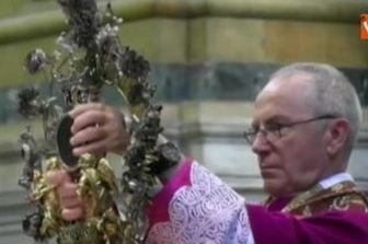
<svg viewBox="0 0 368 244"><path fill-rule="evenodd" d="M336 155L345 147L352 132L346 118L335 118L329 121L326 151L330 156Z"/></svg>

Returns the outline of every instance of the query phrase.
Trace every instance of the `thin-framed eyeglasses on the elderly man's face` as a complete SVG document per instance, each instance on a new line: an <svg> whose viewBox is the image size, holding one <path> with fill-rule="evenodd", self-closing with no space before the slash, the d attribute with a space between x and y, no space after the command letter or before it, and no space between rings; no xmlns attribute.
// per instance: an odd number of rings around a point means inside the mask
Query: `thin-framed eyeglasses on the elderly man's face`
<svg viewBox="0 0 368 244"><path fill-rule="evenodd" d="M321 116L318 116L318 117L313 117L313 118L309 118L309 119L304 119L304 120L299 120L299 121L292 121L292 123L286 123L286 124L275 123L275 124L272 124L272 125L267 126L264 129L250 128L250 129L244 131L244 137L245 137L245 140L248 141L248 143L253 144L254 141L255 141L255 138L258 135L258 132L261 132L262 136L267 141L272 142L272 141L275 141L277 139L280 139L284 136L283 132L284 132L285 128L290 128L290 127L294 127L296 125L317 121L317 120L321 120L321 119L333 119L333 118L337 118L337 117L341 117L341 116L337 116L337 115L321 115Z"/></svg>

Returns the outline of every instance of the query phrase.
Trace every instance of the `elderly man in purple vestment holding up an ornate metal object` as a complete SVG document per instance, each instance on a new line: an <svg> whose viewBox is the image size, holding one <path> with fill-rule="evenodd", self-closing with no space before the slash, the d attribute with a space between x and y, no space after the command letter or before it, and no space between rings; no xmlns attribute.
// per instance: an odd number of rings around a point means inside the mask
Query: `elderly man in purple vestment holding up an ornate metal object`
<svg viewBox="0 0 368 244"><path fill-rule="evenodd" d="M265 205L246 204L208 170L184 159L160 175L164 186L148 210L147 243L368 243L368 201L346 173L361 120L346 78L327 65L287 66L271 77L254 108L245 138L258 156L269 194ZM127 147L122 115L113 108L89 104L70 114L76 155L122 153ZM89 127L96 123L104 132ZM56 172L50 181L59 187L64 217L82 218L66 173Z"/></svg>

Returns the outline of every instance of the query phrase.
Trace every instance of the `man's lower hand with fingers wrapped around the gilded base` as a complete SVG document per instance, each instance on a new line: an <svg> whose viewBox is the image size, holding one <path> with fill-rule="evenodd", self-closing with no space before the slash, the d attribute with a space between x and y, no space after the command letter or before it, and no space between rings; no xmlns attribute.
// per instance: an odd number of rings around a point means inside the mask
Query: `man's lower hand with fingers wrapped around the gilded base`
<svg viewBox="0 0 368 244"><path fill-rule="evenodd" d="M65 170L46 173L48 184L56 187L61 205L61 216L65 220L73 221L84 217L83 202L77 195L77 184L72 183Z"/></svg>

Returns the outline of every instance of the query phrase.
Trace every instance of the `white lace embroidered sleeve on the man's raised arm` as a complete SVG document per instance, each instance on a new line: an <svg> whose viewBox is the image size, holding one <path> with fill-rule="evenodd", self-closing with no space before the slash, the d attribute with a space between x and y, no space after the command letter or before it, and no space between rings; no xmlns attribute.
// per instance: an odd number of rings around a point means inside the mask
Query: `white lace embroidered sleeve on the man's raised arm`
<svg viewBox="0 0 368 244"><path fill-rule="evenodd" d="M253 244L244 199L198 163L192 186L170 201L170 222L154 224L149 244Z"/></svg>

